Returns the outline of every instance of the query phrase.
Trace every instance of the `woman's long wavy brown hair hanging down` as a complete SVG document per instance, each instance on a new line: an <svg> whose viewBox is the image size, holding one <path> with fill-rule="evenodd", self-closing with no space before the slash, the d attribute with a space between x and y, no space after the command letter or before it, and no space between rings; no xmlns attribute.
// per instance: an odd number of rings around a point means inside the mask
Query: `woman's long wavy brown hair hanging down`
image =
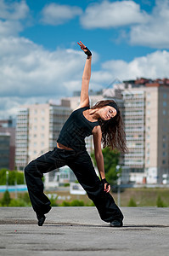
<svg viewBox="0 0 169 256"><path fill-rule="evenodd" d="M112 149L117 148L122 153L128 153L126 133L124 131L124 123L121 117L121 111L113 100L106 100L97 102L92 109L103 108L108 106L110 103L114 103L117 109L115 117L104 121L99 119L99 124L102 131L102 143L103 147L110 147Z"/></svg>

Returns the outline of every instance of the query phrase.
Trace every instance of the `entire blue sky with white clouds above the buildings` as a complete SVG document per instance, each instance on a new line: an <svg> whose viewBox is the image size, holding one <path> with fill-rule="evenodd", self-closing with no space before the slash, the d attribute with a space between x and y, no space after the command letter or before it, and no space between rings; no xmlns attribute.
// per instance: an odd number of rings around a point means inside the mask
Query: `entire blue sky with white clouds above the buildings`
<svg viewBox="0 0 169 256"><path fill-rule="evenodd" d="M168 77L169 0L0 0L0 118L80 90L79 40L93 51L93 90Z"/></svg>

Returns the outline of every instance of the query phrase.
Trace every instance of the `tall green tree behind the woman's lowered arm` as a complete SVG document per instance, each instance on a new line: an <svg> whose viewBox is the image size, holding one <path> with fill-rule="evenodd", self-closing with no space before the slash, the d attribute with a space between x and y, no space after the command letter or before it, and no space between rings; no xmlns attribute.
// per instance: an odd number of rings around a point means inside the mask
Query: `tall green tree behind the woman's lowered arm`
<svg viewBox="0 0 169 256"><path fill-rule="evenodd" d="M115 184L118 179L118 173L121 174L121 168L119 172L116 172L116 166L118 166L120 153L114 149L111 150L109 147L102 149L102 153L104 155L104 171L105 177L110 184ZM96 160L94 157L94 153L91 154L93 159L94 166L96 166Z"/></svg>

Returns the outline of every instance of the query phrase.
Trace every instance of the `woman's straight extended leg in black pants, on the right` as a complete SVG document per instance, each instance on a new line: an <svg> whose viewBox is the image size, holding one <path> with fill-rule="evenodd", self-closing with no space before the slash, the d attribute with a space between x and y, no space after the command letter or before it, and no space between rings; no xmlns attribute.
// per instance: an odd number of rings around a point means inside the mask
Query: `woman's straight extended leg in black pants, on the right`
<svg viewBox="0 0 169 256"><path fill-rule="evenodd" d="M104 185L99 180L93 167L92 160L87 152L68 163L71 170L75 173L77 180L83 189L87 191L88 197L93 201L99 211L100 218L105 222L113 220L122 221L123 214L110 193L104 192Z"/></svg>

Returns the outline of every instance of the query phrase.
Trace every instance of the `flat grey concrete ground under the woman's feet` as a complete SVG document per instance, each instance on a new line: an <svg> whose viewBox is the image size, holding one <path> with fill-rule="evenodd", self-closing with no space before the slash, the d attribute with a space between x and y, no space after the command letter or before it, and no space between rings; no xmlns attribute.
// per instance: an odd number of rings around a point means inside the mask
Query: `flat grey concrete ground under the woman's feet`
<svg viewBox="0 0 169 256"><path fill-rule="evenodd" d="M0 207L0 255L169 255L169 208L121 207L111 228L95 207L53 207L42 227L31 207Z"/></svg>

